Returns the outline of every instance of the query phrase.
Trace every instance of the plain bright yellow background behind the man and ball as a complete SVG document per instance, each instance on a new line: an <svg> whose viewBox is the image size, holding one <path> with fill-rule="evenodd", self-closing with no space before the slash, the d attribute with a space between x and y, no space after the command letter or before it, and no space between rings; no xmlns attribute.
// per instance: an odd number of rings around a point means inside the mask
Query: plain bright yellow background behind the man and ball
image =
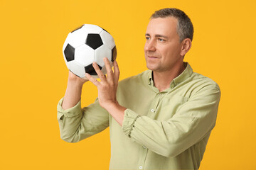
<svg viewBox="0 0 256 170"><path fill-rule="evenodd" d="M139 74L149 16L166 7L191 18L185 61L222 92L201 169L256 169L255 0L1 0L0 169L108 169L108 129L75 144L60 140L56 106L68 78L63 42L83 23L99 25L117 44L120 79ZM86 83L82 106L96 97Z"/></svg>

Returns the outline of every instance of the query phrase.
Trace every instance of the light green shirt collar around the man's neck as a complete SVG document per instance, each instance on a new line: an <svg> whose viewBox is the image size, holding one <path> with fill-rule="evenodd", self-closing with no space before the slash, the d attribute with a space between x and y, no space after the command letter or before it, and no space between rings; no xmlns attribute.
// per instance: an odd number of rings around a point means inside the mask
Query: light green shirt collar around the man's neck
<svg viewBox="0 0 256 170"><path fill-rule="evenodd" d="M188 77L191 77L191 74L193 73L193 69L191 68L190 64L188 64L188 62L184 62L184 64L186 66L184 71L181 74L179 74L178 77L174 78L173 81L171 81L171 84L170 84L171 89L172 89L172 87L176 86L177 84L180 84L182 81L185 81L186 79L188 79ZM152 74L153 74L153 72L150 71L149 85L154 85Z"/></svg>

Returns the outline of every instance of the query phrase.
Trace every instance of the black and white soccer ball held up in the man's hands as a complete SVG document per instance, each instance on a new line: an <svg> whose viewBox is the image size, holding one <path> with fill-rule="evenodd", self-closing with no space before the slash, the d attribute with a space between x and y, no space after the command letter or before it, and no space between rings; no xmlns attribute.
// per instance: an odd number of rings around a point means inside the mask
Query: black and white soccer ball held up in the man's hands
<svg viewBox="0 0 256 170"><path fill-rule="evenodd" d="M103 74L106 67L103 58L107 57L112 62L117 57L117 48L114 38L99 26L84 24L68 34L63 45L65 64L70 72L82 79L87 79L85 73L97 77L92 62L97 62Z"/></svg>

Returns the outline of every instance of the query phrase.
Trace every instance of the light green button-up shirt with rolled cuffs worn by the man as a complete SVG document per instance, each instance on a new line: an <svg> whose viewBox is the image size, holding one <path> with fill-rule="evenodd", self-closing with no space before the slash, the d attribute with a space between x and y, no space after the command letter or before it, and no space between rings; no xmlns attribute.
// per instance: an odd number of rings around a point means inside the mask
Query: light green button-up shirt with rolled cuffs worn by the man
<svg viewBox="0 0 256 170"><path fill-rule="evenodd" d="M213 80L186 69L164 91L152 71L119 81L117 101L127 108L122 127L98 101L63 110L60 137L78 142L110 127L110 169L198 169L215 126L220 89Z"/></svg>

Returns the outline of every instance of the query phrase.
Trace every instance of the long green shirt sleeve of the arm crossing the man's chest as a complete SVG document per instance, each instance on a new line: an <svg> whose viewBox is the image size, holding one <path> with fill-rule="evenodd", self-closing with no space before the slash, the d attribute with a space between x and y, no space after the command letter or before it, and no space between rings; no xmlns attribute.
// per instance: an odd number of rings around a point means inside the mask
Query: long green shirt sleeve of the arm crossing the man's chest
<svg viewBox="0 0 256 170"><path fill-rule="evenodd" d="M172 118L163 121L127 109L122 130L156 154L175 157L209 135L215 126L219 101L218 88L203 88L191 96Z"/></svg>

